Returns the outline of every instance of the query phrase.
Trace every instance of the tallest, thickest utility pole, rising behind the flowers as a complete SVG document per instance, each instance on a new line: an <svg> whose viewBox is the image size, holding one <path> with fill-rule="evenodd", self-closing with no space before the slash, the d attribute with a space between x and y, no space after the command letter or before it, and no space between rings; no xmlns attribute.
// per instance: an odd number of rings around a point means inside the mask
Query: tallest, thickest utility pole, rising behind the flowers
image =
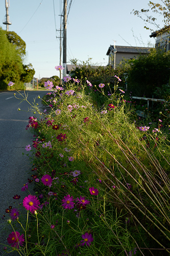
<svg viewBox="0 0 170 256"><path fill-rule="evenodd" d="M64 19L63 19L63 77L67 74L66 65L66 32L67 32L67 0L64 0Z"/></svg>

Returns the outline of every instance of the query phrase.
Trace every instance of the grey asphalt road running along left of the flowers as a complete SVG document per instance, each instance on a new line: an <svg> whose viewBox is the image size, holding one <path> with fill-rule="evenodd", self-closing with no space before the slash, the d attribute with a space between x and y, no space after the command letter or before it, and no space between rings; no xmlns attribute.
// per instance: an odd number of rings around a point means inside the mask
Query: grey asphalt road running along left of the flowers
<svg viewBox="0 0 170 256"><path fill-rule="evenodd" d="M23 91L20 93L24 95ZM42 98L46 91L26 91L26 93L29 95L30 102L36 98L36 102L42 110L41 100L37 96ZM16 96L21 98L17 92ZM22 152L27 154L25 147L32 144L33 134L26 130L26 125L29 116L34 114L27 112L29 104L26 101L19 103L20 100L14 97L14 92L0 93L0 243L5 244L8 244L9 231L5 231L3 228L6 220L10 218L5 210L9 206L16 207L17 203L22 203L23 198L27 196L25 192L21 191L21 187L30 178L27 172L32 167L29 157L22 155ZM18 111L18 108L21 111ZM33 189L33 184L30 185L30 188ZM16 194L21 196L19 200L13 199ZM2 220L3 215L6 216L5 220ZM3 247L0 245L0 255L4 253ZM14 255L14 253L8 255Z"/></svg>

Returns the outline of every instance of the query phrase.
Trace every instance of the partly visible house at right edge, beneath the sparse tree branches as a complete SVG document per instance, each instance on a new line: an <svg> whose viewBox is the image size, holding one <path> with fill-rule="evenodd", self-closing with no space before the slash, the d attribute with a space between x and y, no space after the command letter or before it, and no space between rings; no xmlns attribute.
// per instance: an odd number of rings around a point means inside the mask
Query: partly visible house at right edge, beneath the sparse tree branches
<svg viewBox="0 0 170 256"><path fill-rule="evenodd" d="M155 48L164 49L165 52L170 50L170 26L153 32L150 37L156 37Z"/></svg>

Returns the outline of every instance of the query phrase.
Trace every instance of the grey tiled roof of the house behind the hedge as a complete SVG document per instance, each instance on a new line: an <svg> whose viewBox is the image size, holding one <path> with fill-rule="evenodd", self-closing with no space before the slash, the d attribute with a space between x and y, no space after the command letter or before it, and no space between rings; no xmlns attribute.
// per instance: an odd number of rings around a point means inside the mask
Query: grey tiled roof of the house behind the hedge
<svg viewBox="0 0 170 256"><path fill-rule="evenodd" d="M148 53L149 50L151 50L152 48L150 47L133 47L133 46L115 46L117 53ZM110 46L107 54L109 55L110 52L113 52L114 50L114 46Z"/></svg>

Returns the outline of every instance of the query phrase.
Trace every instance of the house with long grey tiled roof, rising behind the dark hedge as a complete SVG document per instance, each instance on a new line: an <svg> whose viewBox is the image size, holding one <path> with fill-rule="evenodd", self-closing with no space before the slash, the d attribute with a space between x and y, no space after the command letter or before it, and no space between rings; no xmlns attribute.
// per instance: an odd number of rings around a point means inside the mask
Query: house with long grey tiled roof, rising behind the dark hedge
<svg viewBox="0 0 170 256"><path fill-rule="evenodd" d="M148 54L152 49L150 47L133 47L133 46L114 46L109 47L106 55L109 56L108 65L114 65L114 55L115 55L115 64L118 65L120 61L125 59L136 58L139 54ZM115 52L115 53L114 53Z"/></svg>

